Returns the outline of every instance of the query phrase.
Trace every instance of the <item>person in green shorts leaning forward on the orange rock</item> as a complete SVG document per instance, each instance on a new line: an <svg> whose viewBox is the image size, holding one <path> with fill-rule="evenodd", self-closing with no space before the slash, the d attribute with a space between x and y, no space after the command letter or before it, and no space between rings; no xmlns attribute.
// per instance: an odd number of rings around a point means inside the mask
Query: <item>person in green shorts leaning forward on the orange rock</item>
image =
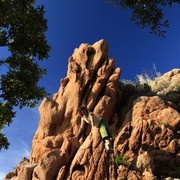
<svg viewBox="0 0 180 180"><path fill-rule="evenodd" d="M81 126L76 136L79 137L79 135L82 133L85 122L90 124L92 127L96 126L100 131L103 141L105 142L105 148L107 152L112 153L113 149L110 142L111 134L109 132L107 122L103 118L88 111L85 106L81 106L78 111L79 111L79 115L81 116Z"/></svg>

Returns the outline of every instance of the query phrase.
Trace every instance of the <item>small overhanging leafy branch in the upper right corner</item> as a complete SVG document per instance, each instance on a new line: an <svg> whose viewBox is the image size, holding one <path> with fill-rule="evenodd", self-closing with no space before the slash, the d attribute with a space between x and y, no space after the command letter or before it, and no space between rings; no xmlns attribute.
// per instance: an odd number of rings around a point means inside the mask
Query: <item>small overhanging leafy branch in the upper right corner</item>
<svg viewBox="0 0 180 180"><path fill-rule="evenodd" d="M131 20L141 28L150 28L150 33L164 37L168 20L164 20L163 8L180 4L180 0L106 0L116 6L120 4L123 10L132 11Z"/></svg>

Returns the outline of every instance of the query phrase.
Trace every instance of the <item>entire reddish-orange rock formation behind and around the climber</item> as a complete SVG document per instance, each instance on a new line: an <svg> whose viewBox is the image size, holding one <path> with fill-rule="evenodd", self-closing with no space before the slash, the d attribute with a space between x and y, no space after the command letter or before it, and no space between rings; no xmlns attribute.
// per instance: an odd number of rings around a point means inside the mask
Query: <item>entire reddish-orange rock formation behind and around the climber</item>
<svg viewBox="0 0 180 180"><path fill-rule="evenodd" d="M59 91L39 107L30 159L23 159L5 179L180 177L180 92L166 87L162 94L161 87L161 95L142 96L134 87L120 85L120 72L108 57L106 41L75 49ZM171 84L180 84L180 71L172 72ZM167 81L168 73L165 76ZM109 123L114 154L106 153L96 127L87 125L77 139L80 105Z"/></svg>

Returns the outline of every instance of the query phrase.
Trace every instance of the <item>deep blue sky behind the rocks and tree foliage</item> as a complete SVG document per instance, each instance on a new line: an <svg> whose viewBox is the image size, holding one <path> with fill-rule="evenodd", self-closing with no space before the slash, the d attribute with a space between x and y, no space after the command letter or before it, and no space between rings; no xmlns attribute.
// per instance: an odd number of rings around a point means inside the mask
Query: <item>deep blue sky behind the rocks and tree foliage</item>
<svg viewBox="0 0 180 180"><path fill-rule="evenodd" d="M180 68L180 6L165 9L170 29L163 39L150 35L147 29L139 29L130 21L130 12L114 8L105 0L37 2L45 4L47 38L52 47L50 58L41 63L48 69L48 75L40 85L51 94L57 92L60 79L66 76L67 61L74 49L81 43L93 44L100 39L108 42L109 57L121 68L121 79L134 80L142 71L152 70L153 64L161 74ZM0 49L1 57L6 53ZM29 156L38 123L38 106L24 108L18 110L13 124L4 130L11 145L8 151L0 152L0 179L12 171L23 156Z"/></svg>

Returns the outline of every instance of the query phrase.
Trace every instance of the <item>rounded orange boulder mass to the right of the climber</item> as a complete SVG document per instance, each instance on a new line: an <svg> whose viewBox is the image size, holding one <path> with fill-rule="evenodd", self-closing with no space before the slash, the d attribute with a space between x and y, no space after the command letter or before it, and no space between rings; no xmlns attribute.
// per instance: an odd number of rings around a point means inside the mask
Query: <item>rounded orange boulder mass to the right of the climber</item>
<svg viewBox="0 0 180 180"><path fill-rule="evenodd" d="M129 111L126 109L114 149L116 153L126 154L130 162L139 157L139 153L148 151L156 164L155 174L180 177L180 172L174 170L180 167L180 114L168 105L156 95L136 98ZM154 179L153 173L149 173L151 171L144 170L142 177Z"/></svg>

